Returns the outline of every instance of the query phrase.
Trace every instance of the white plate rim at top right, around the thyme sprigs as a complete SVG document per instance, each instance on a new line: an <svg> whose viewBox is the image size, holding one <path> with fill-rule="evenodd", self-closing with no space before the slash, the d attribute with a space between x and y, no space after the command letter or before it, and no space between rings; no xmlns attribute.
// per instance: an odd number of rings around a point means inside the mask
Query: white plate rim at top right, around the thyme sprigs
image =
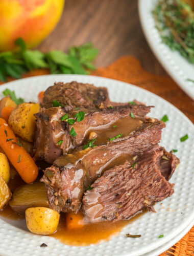
<svg viewBox="0 0 194 256"><path fill-rule="evenodd" d="M179 52L172 51L161 41L156 29L152 10L158 0L139 0L139 17L147 41L166 72L177 82L185 93L194 99L194 65L189 63Z"/></svg>

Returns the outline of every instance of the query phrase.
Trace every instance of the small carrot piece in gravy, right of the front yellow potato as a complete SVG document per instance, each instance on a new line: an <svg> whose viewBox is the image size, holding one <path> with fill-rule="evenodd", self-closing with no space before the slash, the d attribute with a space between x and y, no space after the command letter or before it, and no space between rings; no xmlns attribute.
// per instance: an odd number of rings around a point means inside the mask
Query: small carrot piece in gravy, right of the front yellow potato
<svg viewBox="0 0 194 256"><path fill-rule="evenodd" d="M66 227L68 229L78 229L84 225L83 215L79 212L78 214L68 213L66 214Z"/></svg>

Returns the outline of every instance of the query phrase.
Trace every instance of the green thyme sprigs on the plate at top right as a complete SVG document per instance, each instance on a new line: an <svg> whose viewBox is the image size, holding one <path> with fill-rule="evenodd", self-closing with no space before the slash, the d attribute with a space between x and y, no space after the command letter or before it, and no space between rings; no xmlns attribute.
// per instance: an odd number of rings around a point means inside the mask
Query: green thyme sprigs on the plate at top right
<svg viewBox="0 0 194 256"><path fill-rule="evenodd" d="M159 0L153 15L162 41L194 63L193 11L180 0Z"/></svg>

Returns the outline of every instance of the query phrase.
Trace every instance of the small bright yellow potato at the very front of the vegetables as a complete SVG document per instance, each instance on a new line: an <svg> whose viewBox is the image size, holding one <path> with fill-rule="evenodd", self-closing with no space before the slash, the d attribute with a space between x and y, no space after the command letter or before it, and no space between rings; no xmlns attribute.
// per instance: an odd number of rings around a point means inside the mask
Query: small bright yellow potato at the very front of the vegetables
<svg viewBox="0 0 194 256"><path fill-rule="evenodd" d="M34 207L26 210L26 224L34 234L52 234L57 230L60 215L46 207Z"/></svg>

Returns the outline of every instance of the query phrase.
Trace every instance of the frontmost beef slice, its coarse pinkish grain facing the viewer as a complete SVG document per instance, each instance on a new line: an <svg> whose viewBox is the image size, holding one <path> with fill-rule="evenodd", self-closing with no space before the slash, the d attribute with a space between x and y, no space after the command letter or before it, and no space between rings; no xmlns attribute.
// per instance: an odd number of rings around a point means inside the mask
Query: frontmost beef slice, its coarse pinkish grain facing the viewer
<svg viewBox="0 0 194 256"><path fill-rule="evenodd" d="M128 220L144 208L154 211L155 202L174 192L158 168L162 155L163 149L156 145L139 156L135 165L126 161L106 170L84 194L82 210L86 219L115 222Z"/></svg>

